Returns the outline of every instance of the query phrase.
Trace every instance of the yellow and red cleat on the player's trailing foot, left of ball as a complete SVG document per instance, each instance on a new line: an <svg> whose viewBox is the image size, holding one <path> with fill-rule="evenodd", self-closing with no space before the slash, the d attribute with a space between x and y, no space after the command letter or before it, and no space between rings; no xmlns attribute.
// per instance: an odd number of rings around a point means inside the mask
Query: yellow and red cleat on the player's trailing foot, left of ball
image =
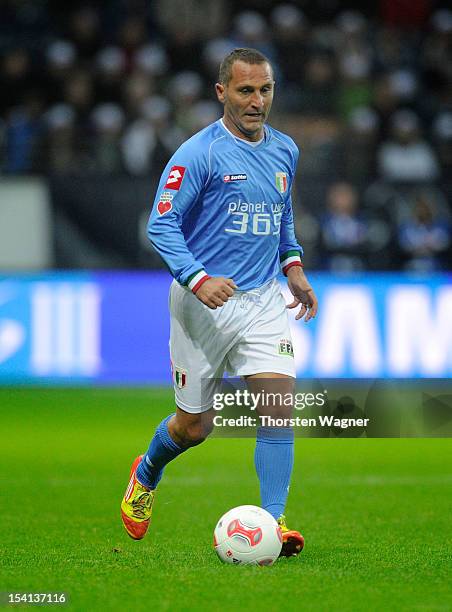
<svg viewBox="0 0 452 612"><path fill-rule="evenodd" d="M152 504L155 491L151 491L137 480L137 467L142 455L132 463L129 485L121 502L121 518L123 525L131 538L141 540L151 522Z"/></svg>

